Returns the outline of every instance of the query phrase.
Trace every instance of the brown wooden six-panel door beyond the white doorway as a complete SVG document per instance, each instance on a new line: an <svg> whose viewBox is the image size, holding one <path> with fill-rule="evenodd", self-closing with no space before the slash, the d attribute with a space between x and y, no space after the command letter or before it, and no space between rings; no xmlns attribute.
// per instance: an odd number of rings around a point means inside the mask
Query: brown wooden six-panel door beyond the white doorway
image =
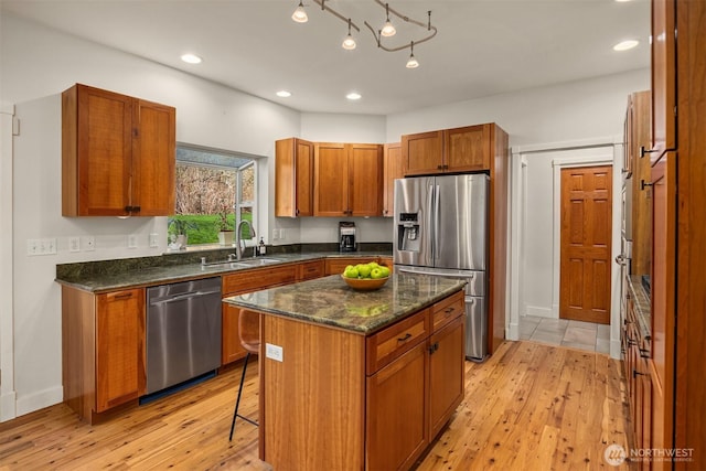
<svg viewBox="0 0 706 471"><path fill-rule="evenodd" d="M612 167L561 170L559 317L610 323Z"/></svg>

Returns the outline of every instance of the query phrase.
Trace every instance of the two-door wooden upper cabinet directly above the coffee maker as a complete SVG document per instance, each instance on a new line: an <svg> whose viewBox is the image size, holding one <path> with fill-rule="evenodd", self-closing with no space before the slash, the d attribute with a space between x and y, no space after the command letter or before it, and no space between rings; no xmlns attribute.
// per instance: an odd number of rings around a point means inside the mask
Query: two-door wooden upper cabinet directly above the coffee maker
<svg viewBox="0 0 706 471"><path fill-rule="evenodd" d="M381 216L383 146L314 143L314 216Z"/></svg>

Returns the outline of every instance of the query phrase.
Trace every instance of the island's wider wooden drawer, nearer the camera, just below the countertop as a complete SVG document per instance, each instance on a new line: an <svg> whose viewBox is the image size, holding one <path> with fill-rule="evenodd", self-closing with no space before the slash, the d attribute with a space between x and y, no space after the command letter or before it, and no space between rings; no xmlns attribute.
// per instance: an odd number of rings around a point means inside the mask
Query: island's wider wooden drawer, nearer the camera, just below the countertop
<svg viewBox="0 0 706 471"><path fill-rule="evenodd" d="M371 335L365 341L366 373L372 375L429 336L429 309Z"/></svg>

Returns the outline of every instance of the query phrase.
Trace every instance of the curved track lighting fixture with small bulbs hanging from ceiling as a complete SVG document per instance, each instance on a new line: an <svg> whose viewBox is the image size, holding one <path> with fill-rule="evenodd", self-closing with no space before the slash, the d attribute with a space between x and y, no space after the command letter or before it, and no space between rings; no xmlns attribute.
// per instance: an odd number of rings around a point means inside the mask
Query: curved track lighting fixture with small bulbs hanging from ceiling
<svg viewBox="0 0 706 471"><path fill-rule="evenodd" d="M309 20L309 18L307 17L307 12L304 11L304 6L303 6L302 1L303 0L299 0L299 6L297 7L297 10L295 10L295 13L291 15L292 20L295 20L298 23L306 23ZM343 43L341 45L345 50L349 50L349 51L350 50L354 50L357 44L355 42L355 39L353 38L353 31L352 30L361 32L361 29L352 21L351 18L344 17L343 14L339 13L338 11L335 11L334 9L329 7L327 4L327 0L312 0L312 1L315 4L318 4L319 7L321 7L322 11L331 13L332 15L338 18L339 20L347 23L347 25L349 25L349 34L345 36L345 39L343 40ZM373 34L373 38L375 38L375 42L377 43L377 47L382 49L385 52L403 51L403 50L406 50L407 47L409 47L410 55L409 55L409 60L407 61L407 67L408 68L418 67L419 66L419 62L415 57L415 53L414 53L415 44L424 43L424 42L429 41L430 39L432 39L434 36L437 35L437 28L431 25L431 11L427 12L427 22L422 23L422 22L414 20L414 19L411 19L411 18L409 18L409 17L407 17L405 14L402 14L398 11L395 11L394 9L389 8L389 3L383 3L382 0L373 0L373 1L385 9L385 24L383 25L383 28L381 30L376 31L375 29L373 29L373 26L371 26L371 24L367 21L364 21L364 24L371 31L371 33ZM389 20L389 14L391 13L393 15L397 17L399 20L406 22L406 23L409 23L409 24L416 25L416 26L420 26L420 28L427 30L427 32L428 32L427 35L421 38L421 39L417 39L416 41L410 41L409 43L404 43L404 44L398 45L398 46L387 45L385 43L387 41L387 39L391 38L391 36L394 36L397 33L397 31L395 29L395 25Z"/></svg>

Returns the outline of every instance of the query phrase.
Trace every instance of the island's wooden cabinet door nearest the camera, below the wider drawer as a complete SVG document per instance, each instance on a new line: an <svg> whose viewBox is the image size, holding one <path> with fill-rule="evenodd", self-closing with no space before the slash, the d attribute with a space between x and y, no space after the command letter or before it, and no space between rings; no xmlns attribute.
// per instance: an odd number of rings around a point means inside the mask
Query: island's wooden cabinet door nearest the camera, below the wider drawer
<svg viewBox="0 0 706 471"><path fill-rule="evenodd" d="M366 469L409 469L429 442L426 342L367 378Z"/></svg>

